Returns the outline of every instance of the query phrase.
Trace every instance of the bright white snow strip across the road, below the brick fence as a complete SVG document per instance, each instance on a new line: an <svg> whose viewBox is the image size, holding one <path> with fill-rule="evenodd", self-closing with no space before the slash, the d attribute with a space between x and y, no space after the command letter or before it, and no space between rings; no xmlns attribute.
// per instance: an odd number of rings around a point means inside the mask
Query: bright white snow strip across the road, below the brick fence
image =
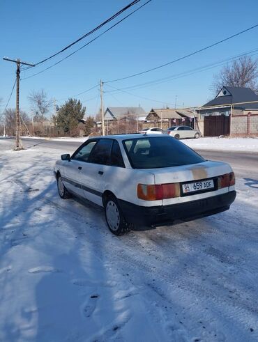
<svg viewBox="0 0 258 342"><path fill-rule="evenodd" d="M183 139L185 145L197 150L222 150L258 152L258 138L218 138Z"/></svg>

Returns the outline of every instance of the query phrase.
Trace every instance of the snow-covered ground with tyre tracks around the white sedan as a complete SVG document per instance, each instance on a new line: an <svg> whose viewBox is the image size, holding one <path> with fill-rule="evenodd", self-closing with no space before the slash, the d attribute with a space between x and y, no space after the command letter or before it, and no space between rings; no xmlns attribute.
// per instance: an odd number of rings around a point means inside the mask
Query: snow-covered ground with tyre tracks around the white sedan
<svg viewBox="0 0 258 342"><path fill-rule="evenodd" d="M12 147L0 140L0 341L258 340L257 169L239 169L227 212L117 238L102 210L59 198L63 150Z"/></svg>

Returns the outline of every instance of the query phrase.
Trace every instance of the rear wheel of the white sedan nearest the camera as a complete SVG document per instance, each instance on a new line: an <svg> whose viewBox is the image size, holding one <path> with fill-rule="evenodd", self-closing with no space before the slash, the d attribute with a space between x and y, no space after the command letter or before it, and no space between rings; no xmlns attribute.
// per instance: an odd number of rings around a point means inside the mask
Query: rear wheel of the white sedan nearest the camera
<svg viewBox="0 0 258 342"><path fill-rule="evenodd" d="M105 201L105 217L109 230L115 235L129 233L130 224L126 222L115 196L108 196Z"/></svg>

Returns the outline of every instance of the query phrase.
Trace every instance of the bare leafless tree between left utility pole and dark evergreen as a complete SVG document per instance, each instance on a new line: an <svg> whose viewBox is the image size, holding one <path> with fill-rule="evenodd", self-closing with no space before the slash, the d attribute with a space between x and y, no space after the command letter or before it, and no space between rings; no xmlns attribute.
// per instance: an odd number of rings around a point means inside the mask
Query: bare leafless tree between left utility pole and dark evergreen
<svg viewBox="0 0 258 342"><path fill-rule="evenodd" d="M43 89L41 91L32 91L28 99L31 102L34 121L45 121L46 114L52 105L52 100L48 98L47 93Z"/></svg>

